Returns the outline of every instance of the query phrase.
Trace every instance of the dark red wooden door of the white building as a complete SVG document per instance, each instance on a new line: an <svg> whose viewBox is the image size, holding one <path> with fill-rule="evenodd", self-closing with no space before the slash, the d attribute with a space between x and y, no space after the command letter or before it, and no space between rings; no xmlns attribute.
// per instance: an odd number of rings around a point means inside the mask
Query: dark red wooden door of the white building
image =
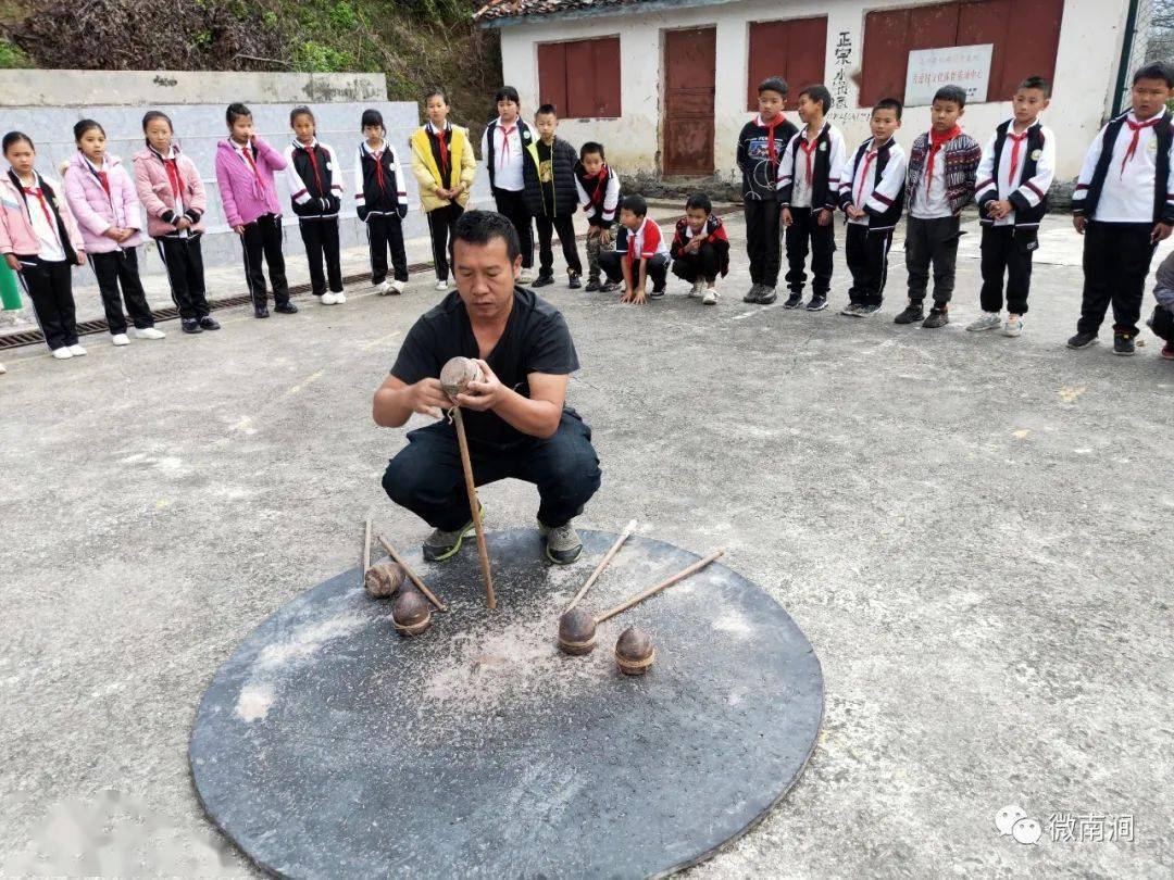
<svg viewBox="0 0 1174 880"><path fill-rule="evenodd" d="M664 32L664 174L714 172L714 69L717 31Z"/></svg>

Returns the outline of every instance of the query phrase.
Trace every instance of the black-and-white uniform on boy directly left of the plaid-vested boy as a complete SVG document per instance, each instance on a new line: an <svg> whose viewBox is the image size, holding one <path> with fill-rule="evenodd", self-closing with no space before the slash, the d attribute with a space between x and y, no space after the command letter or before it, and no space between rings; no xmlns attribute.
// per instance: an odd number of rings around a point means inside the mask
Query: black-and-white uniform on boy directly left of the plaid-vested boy
<svg viewBox="0 0 1174 880"><path fill-rule="evenodd" d="M909 157L896 138L879 147L866 140L844 169L839 204L865 211L849 217L844 256L852 273L848 298L859 305L880 305L889 280L889 249L905 207L905 171Z"/></svg>

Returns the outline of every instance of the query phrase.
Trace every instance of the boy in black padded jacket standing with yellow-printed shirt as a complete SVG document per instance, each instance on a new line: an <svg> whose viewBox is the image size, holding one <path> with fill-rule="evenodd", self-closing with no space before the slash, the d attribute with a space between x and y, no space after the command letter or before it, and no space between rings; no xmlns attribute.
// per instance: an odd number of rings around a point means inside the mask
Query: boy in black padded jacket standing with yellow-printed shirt
<svg viewBox="0 0 1174 880"><path fill-rule="evenodd" d="M538 279L535 287L554 284L554 251L551 239L559 233L562 245L562 257L567 260L568 286L581 287L579 277L583 273L579 262L579 248L575 245L575 208L579 204L579 192L575 188L575 163L579 161L575 148L555 137L559 116L554 104L542 104L534 114L534 128L538 129L538 141L526 147L529 162L522 168L526 183L526 209L534 216L538 225Z"/></svg>

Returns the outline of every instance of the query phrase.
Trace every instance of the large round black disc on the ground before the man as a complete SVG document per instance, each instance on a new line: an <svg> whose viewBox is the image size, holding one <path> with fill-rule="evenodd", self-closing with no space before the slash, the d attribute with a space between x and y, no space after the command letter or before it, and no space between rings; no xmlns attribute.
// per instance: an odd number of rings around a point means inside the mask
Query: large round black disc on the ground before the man
<svg viewBox="0 0 1174 880"><path fill-rule="evenodd" d="M582 533L574 566L534 532L488 535L441 566L407 555L448 603L414 639L358 569L262 623L216 673L190 745L210 819L292 876L648 876L748 830L815 745L823 677L758 587L711 564L561 655L558 618L615 540ZM407 548L400 548L406 554ZM600 612L697 557L633 536L583 601ZM647 629L656 663L613 648Z"/></svg>

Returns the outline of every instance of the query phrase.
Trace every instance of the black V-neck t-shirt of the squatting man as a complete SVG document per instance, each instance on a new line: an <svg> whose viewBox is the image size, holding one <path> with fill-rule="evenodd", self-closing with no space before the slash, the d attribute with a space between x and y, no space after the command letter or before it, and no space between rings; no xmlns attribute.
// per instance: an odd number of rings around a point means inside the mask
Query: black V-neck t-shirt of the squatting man
<svg viewBox="0 0 1174 880"><path fill-rule="evenodd" d="M480 357L473 325L460 293L453 291L412 325L391 374L405 385L437 379L450 358ZM579 368L579 356L561 312L532 291L514 287L506 329L490 357L490 368L507 388L529 397L531 373L568 375ZM464 411L470 442L508 445L527 435L492 412Z"/></svg>

